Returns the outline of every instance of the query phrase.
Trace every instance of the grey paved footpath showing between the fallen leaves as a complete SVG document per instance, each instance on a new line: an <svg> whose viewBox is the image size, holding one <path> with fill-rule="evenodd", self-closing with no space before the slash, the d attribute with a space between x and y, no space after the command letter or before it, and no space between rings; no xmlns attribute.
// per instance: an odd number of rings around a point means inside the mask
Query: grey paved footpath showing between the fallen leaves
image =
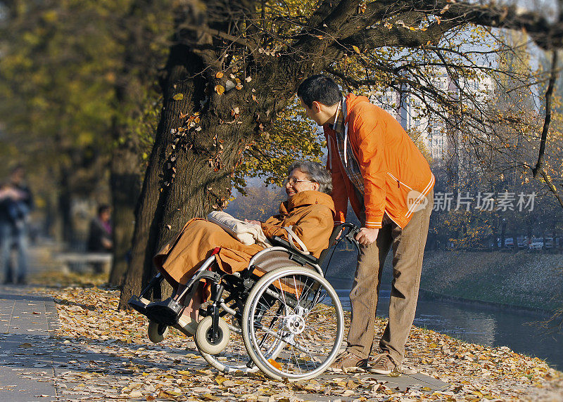
<svg viewBox="0 0 563 402"><path fill-rule="evenodd" d="M48 246L31 247L30 274L56 269L56 266L50 265L53 261ZM101 341L56 337L60 322L55 302L52 297L34 293L35 290L34 286L0 285L0 402L146 401L144 397L122 396L120 392L116 394L116 388L121 389L132 380L132 374L127 372L129 363L158 370L175 368L177 361L182 361L182 370L195 371L207 367L201 357L185 358L189 353L198 355L191 340L185 344L185 349L163 348L163 354L159 355L162 358L146 361L137 357L135 349L146 347L160 350L160 346L150 344L148 339L146 345L120 345L120 349L127 349L129 355L135 354L134 357L125 358L114 353L115 348L107 347L108 344L113 345L113 339ZM403 374L400 377L369 373L357 375L385 382L386 386L403 391L407 387L419 387L431 393L449 387L445 382L422 374ZM343 377L343 374L325 373L318 380L335 377ZM346 396L322 394L296 396L305 401L352 400Z"/></svg>

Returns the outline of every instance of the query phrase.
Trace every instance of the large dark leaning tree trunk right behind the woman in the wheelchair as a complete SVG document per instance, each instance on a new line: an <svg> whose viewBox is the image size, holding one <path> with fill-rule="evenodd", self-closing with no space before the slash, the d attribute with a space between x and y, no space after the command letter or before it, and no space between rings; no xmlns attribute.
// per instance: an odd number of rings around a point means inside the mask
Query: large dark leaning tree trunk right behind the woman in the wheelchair
<svg viewBox="0 0 563 402"><path fill-rule="evenodd" d="M271 127L300 77L312 72L294 60L265 63L256 68L259 74L244 90L227 89L219 95L213 71L220 66L202 53L183 45L170 49L162 84L163 112L136 212L120 308L153 277L153 255L186 221L226 205L246 145Z"/></svg>

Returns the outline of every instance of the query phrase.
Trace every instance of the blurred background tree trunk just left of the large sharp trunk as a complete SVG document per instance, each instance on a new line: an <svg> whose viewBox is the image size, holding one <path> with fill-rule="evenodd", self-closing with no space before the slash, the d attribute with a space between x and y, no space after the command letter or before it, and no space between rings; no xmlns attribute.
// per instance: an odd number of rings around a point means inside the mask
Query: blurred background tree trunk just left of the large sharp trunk
<svg viewBox="0 0 563 402"><path fill-rule="evenodd" d="M134 0L127 15L120 21L128 34L124 41L122 69L115 84L117 110L112 124L113 140L119 144L113 150L110 179L114 222L113 266L109 278L112 285L122 285L131 260L135 205L139 202L143 178L139 137L148 139L154 135L144 103L156 101L156 93L153 96L151 89L157 82L157 64L160 61L158 52L147 49L154 41L171 34L164 28L167 24L163 21L166 20L163 13L174 14L170 2L156 4L148 0ZM146 20L146 15L160 18L163 27ZM139 20L143 22L139 23ZM135 123L132 125L132 122ZM140 135L139 129L142 130Z"/></svg>

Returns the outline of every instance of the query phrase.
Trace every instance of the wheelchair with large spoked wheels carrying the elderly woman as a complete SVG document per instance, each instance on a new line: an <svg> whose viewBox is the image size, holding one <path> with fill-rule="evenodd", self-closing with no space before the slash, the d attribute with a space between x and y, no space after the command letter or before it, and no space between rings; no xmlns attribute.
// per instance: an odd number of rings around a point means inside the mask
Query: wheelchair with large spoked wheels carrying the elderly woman
<svg viewBox="0 0 563 402"><path fill-rule="evenodd" d="M338 294L320 265L343 239L359 252L358 232L350 223L335 226L329 247L318 259L275 237L273 247L255 254L248 268L233 274L210 271L213 254L176 299L172 294L164 301L148 301L149 292L163 280L158 273L139 296L129 299L129 306L148 317L152 342L162 341L170 326L191 335L182 327L184 305L177 300L206 280L211 296L200 309L203 319L194 334L205 361L225 373L262 370L274 380L308 380L331 365L344 332Z"/></svg>

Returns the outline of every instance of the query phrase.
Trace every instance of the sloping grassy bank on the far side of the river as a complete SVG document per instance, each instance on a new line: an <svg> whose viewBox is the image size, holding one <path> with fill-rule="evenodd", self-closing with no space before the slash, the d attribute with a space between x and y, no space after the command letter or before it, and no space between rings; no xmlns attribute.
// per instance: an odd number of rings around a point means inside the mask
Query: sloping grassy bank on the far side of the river
<svg viewBox="0 0 563 402"><path fill-rule="evenodd" d="M327 272L334 287L350 289L355 252L338 251ZM382 286L393 279L391 253ZM563 305L563 254L426 252L420 280L424 297L507 306L547 314Z"/></svg>

